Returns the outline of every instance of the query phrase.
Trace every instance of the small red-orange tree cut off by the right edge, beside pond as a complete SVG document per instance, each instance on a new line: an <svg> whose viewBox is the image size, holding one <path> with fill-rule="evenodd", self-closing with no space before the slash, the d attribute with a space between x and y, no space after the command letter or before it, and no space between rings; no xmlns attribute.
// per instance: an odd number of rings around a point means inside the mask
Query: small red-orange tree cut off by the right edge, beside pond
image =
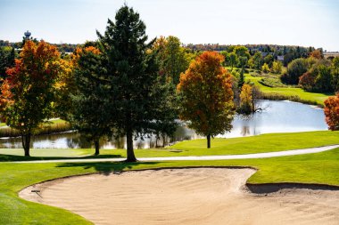
<svg viewBox="0 0 339 225"><path fill-rule="evenodd" d="M339 130L339 92L334 97L328 97L325 100L324 108L328 129L332 131Z"/></svg>

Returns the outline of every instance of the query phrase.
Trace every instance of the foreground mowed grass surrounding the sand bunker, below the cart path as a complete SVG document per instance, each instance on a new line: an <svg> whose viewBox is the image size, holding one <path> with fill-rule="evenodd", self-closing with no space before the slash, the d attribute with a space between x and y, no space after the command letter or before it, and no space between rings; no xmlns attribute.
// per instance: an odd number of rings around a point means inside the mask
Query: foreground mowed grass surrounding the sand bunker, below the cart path
<svg viewBox="0 0 339 225"><path fill-rule="evenodd" d="M34 183L85 173L142 170L166 167L251 166L258 169L250 183L319 183L339 186L339 149L294 157L224 161L138 163L61 163L0 165L0 224L90 224L79 215L39 205L18 197ZM113 220L113 218L112 218Z"/></svg>

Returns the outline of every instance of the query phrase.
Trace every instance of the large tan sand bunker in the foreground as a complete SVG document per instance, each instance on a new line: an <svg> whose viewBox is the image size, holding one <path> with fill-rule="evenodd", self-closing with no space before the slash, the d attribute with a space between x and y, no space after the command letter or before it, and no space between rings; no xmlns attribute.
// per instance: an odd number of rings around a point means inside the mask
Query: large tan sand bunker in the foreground
<svg viewBox="0 0 339 225"><path fill-rule="evenodd" d="M95 224L339 224L339 191L253 194L244 186L252 173L194 168L92 174L31 186L20 196Z"/></svg>

